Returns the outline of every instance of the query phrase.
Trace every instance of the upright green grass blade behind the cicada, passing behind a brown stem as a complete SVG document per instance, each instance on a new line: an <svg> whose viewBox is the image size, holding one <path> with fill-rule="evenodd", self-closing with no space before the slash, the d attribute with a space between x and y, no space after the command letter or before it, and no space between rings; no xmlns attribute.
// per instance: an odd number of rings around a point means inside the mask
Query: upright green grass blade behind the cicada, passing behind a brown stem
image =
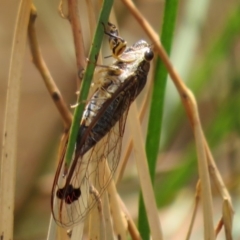
<svg viewBox="0 0 240 240"><path fill-rule="evenodd" d="M175 28L175 19L177 15L177 0L169 0L165 2L164 8L164 21L162 27L161 40L162 44L169 54L172 45L172 38ZM146 140L146 153L149 164L149 171L151 180L154 180L156 160L158 156L158 148L160 143L162 115L163 115L163 101L165 86L167 81L167 70L160 59L157 60L156 73L155 73L154 87L152 93L152 101L150 108L150 116ZM139 199L139 231L142 239L149 239L149 225L147 222L146 211L143 203L142 195Z"/></svg>

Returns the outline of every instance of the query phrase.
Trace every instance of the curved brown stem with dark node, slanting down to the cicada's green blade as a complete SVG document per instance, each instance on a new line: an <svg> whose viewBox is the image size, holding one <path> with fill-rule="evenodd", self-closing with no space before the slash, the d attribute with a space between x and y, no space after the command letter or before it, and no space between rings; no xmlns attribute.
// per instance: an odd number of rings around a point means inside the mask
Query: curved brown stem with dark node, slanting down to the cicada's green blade
<svg viewBox="0 0 240 240"><path fill-rule="evenodd" d="M35 20L37 17L37 11L36 8L32 5L31 8L31 16L30 21L28 25L28 37L30 42L30 48L32 52L32 58L33 63L39 70L40 74L42 75L42 78L44 80L44 83L48 89L48 92L50 93L61 117L64 123L64 127L66 130L68 130L71 126L72 122L72 114L69 111L57 85L55 84L50 71L48 70L46 63L41 55L41 51L39 48L38 40L37 40L37 34L35 30Z"/></svg>

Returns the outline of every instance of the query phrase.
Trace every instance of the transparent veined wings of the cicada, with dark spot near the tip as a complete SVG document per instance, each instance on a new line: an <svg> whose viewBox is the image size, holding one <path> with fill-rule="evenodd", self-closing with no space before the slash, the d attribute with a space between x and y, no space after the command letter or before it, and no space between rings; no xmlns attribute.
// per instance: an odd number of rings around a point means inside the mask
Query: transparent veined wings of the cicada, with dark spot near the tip
<svg viewBox="0 0 240 240"><path fill-rule="evenodd" d="M79 157L75 165L70 166L68 174L71 176L63 177L62 162L52 191L52 212L58 225L69 228L86 218L97 202L96 197L89 192L90 186L98 191L99 196L105 191L120 160L127 112L128 109L101 141L83 157ZM107 167L110 175L107 174ZM70 181L67 182L69 177Z"/></svg>

